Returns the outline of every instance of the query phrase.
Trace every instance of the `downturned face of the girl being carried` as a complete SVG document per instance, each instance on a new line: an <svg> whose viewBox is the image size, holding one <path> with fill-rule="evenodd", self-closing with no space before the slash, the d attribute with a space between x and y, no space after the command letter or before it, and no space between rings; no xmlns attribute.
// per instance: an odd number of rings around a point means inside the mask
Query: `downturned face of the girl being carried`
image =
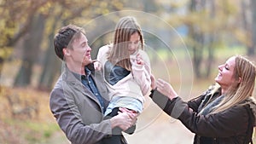
<svg viewBox="0 0 256 144"><path fill-rule="evenodd" d="M140 36L137 32L133 33L130 37L130 41L128 44L128 51L130 55L133 55L137 52L140 41Z"/></svg>

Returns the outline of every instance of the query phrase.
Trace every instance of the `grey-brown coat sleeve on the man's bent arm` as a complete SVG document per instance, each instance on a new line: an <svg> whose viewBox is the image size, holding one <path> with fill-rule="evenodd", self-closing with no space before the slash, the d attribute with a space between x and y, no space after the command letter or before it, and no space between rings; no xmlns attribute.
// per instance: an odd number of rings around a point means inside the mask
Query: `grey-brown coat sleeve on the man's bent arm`
<svg viewBox="0 0 256 144"><path fill-rule="evenodd" d="M78 106L73 100L64 96L62 89L52 91L49 106L61 130L73 144L94 144L111 134L109 120L103 120L98 124L84 124Z"/></svg>

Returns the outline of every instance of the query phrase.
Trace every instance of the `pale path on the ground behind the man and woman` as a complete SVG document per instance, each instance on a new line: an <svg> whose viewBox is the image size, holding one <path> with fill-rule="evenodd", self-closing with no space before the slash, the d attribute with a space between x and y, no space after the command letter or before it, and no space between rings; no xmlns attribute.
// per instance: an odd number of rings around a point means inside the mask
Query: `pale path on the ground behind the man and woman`
<svg viewBox="0 0 256 144"><path fill-rule="evenodd" d="M194 135L178 120L174 120L148 101L143 113L138 117L137 130L126 135L129 144L192 144ZM70 144L65 135L57 132L47 144Z"/></svg>

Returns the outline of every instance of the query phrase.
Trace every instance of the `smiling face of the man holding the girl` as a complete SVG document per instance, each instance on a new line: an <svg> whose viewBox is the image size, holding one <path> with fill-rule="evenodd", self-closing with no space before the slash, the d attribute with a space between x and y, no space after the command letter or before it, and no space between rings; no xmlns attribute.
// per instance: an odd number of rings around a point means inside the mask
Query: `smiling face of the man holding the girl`
<svg viewBox="0 0 256 144"><path fill-rule="evenodd" d="M77 63L82 66L87 66L90 64L90 46L88 45L88 40L84 34L80 34L80 37L77 37L73 40L72 43L73 49L69 49L70 60L73 63Z"/></svg>

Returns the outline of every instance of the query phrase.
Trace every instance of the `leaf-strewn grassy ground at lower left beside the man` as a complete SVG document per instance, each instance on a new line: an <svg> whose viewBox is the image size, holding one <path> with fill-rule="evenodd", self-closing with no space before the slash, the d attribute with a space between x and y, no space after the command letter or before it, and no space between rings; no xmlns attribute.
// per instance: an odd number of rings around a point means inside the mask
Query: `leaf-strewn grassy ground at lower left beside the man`
<svg viewBox="0 0 256 144"><path fill-rule="evenodd" d="M2 113L0 125L5 130L0 130L0 143L45 143L56 131L60 131L60 128L55 122L53 115L49 112L49 93L40 92L35 89L9 89L2 87L0 93L1 106L0 111ZM36 112L31 111L31 115L27 113L19 113L15 116L12 114L12 107L18 105L18 103L11 106L7 101L8 97L16 95L20 96L19 102L29 100L30 103L38 101L38 110ZM17 107L17 106L16 106ZM23 108L23 105L19 106ZM30 107L26 105L24 107ZM7 110L7 111L6 111ZM46 142L47 143L47 142Z"/></svg>

